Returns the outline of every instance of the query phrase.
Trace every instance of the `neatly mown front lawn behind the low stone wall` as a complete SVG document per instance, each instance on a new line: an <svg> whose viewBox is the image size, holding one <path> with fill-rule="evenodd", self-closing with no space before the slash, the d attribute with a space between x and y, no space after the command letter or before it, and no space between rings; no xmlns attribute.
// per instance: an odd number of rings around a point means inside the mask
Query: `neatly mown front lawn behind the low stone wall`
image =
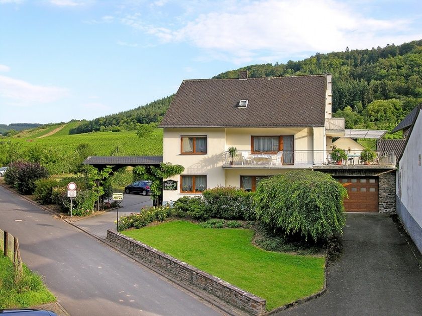
<svg viewBox="0 0 422 316"><path fill-rule="evenodd" d="M249 229L172 221L123 234L265 298L268 310L318 292L324 284L325 258L259 249Z"/></svg>

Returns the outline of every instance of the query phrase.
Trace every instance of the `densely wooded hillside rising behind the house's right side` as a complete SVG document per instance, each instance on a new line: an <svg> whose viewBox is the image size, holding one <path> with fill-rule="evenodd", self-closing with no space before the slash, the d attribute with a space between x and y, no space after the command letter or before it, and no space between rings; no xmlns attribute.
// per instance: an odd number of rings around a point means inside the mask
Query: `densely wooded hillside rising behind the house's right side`
<svg viewBox="0 0 422 316"><path fill-rule="evenodd" d="M286 64L251 65L214 78L333 74L334 116L346 118L346 128L391 130L422 102L422 41L371 50L315 54ZM399 137L399 135L395 135Z"/></svg>

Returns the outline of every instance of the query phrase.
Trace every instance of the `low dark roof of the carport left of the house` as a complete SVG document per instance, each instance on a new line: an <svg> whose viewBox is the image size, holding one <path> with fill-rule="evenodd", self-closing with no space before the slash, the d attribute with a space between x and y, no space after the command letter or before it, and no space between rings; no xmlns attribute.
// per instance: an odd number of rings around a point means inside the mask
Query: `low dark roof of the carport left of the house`
<svg viewBox="0 0 422 316"><path fill-rule="evenodd" d="M140 166L159 165L162 162L162 156L89 156L83 163L92 166Z"/></svg>

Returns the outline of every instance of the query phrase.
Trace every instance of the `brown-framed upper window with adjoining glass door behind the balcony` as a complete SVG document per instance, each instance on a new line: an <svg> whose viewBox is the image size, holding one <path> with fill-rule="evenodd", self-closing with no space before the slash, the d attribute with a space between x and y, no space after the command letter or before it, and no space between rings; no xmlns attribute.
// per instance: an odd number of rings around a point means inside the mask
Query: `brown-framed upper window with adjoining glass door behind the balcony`
<svg viewBox="0 0 422 316"><path fill-rule="evenodd" d="M251 153L275 154L283 151L283 165L294 164L294 135L251 136Z"/></svg>

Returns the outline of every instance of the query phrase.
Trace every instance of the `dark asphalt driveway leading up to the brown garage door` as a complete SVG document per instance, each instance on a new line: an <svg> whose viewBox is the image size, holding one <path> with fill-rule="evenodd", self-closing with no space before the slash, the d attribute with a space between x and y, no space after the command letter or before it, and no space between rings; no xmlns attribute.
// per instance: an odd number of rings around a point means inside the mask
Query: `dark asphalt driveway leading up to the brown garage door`
<svg viewBox="0 0 422 316"><path fill-rule="evenodd" d="M422 270L389 215L347 214L327 291L278 315L422 315Z"/></svg>

